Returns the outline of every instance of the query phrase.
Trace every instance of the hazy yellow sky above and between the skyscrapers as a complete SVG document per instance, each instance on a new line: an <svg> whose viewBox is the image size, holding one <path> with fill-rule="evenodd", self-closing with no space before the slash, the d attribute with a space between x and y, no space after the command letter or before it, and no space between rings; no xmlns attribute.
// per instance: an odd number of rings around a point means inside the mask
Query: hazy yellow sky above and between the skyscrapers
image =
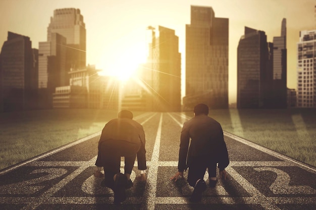
<svg viewBox="0 0 316 210"><path fill-rule="evenodd" d="M281 35L287 19L287 86L296 89L296 43L300 30L315 28L316 0L0 0L0 45L8 31L30 37L32 47L46 41L55 9L80 9L86 24L87 64L106 71L119 63L144 61L150 32L147 26L174 29L179 36L182 76L185 75L185 25L190 6L212 7L215 17L229 18L229 102L236 102L237 46L244 27L265 31L268 41ZM184 78L182 79L184 83ZM184 93L184 90L182 90Z"/></svg>

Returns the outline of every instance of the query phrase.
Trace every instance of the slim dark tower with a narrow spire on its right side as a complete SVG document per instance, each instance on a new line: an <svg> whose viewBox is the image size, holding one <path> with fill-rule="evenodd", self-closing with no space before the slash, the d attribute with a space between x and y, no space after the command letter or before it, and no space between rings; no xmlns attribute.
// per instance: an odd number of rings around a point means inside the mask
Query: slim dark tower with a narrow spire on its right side
<svg viewBox="0 0 316 210"><path fill-rule="evenodd" d="M281 36L273 37L273 82L271 108L287 108L286 19L282 20Z"/></svg>

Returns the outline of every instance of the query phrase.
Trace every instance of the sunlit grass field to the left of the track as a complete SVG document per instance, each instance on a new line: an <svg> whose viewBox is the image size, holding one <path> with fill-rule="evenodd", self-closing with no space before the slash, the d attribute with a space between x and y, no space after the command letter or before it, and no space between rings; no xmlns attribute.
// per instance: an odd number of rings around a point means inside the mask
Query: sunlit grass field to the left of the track
<svg viewBox="0 0 316 210"><path fill-rule="evenodd" d="M96 133L115 117L92 109L0 113L0 169Z"/></svg>

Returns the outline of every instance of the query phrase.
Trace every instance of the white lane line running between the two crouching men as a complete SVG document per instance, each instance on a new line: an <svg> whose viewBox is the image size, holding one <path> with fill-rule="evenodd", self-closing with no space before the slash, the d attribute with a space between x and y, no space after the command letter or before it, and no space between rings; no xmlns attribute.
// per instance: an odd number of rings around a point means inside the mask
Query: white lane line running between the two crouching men
<svg viewBox="0 0 316 210"><path fill-rule="evenodd" d="M156 197L156 185L157 185L157 173L159 166L159 153L160 153L160 140L162 133L163 114L160 115L159 126L155 138L155 143L152 150L150 167L147 175L147 182L145 186L146 204L142 205L142 209L154 210L155 197Z"/></svg>

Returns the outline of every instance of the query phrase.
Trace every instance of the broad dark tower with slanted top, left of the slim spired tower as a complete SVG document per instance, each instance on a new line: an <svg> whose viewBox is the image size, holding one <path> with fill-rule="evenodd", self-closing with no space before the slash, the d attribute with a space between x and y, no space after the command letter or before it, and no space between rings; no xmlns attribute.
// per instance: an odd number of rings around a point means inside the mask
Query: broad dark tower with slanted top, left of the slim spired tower
<svg viewBox="0 0 316 210"><path fill-rule="evenodd" d="M267 106L271 65L266 33L245 27L237 48L237 108Z"/></svg>

